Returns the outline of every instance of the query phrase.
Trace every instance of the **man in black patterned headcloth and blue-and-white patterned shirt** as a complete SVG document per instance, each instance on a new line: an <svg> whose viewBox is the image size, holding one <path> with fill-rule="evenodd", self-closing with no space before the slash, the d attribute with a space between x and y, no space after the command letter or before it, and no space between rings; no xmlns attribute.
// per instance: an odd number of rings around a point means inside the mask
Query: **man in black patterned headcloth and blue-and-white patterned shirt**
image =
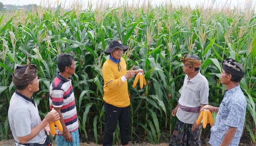
<svg viewBox="0 0 256 146"><path fill-rule="evenodd" d="M227 91L221 105L205 106L211 112L218 112L214 125L211 127L209 143L212 146L238 146L244 127L246 99L239 82L244 77L244 70L234 59L222 61L221 84Z"/></svg>

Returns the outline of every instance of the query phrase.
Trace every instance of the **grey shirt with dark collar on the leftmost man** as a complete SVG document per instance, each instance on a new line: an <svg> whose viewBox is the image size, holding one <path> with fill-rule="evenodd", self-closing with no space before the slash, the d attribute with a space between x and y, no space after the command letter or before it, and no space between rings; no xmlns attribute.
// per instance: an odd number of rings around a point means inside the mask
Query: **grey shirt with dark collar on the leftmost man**
<svg viewBox="0 0 256 146"><path fill-rule="evenodd" d="M24 137L31 133L31 128L37 126L41 119L37 105L31 102L28 97L15 92L10 100L8 110L8 120L11 127L12 135L16 142L20 142L18 137ZM27 143L44 143L46 134L42 129L33 139Z"/></svg>

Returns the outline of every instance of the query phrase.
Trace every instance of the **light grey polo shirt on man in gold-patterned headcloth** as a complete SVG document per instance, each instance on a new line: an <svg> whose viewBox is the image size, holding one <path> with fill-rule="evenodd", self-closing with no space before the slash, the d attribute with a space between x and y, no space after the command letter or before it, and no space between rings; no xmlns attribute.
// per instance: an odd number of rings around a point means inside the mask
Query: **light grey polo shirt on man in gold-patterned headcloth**
<svg viewBox="0 0 256 146"><path fill-rule="evenodd" d="M195 108L201 104L208 104L208 95L208 81L200 72L191 80L186 74L178 102L182 106ZM183 123L193 124L196 122L199 113L183 111L178 107L176 116Z"/></svg>

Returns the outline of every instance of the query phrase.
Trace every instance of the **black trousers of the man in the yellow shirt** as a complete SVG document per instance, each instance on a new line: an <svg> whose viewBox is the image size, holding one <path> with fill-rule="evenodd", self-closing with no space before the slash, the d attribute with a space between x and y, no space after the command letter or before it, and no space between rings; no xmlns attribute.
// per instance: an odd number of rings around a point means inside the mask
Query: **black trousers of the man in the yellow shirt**
<svg viewBox="0 0 256 146"><path fill-rule="evenodd" d="M116 107L114 105L104 103L105 109L105 128L103 134L103 146L112 146L113 133L116 130L117 121L121 133L121 144L127 145L130 141L129 127L131 123L131 107Z"/></svg>

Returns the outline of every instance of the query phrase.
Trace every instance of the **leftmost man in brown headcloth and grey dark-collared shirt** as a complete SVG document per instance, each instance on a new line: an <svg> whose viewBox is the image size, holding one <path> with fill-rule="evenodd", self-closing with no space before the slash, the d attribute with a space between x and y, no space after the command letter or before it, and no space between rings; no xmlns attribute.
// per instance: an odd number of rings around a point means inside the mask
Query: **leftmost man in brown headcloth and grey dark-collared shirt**
<svg viewBox="0 0 256 146"><path fill-rule="evenodd" d="M17 66L12 74L16 87L10 100L8 120L15 146L51 146L49 123L60 119L57 111L49 112L41 121L33 93L39 90L36 65Z"/></svg>

